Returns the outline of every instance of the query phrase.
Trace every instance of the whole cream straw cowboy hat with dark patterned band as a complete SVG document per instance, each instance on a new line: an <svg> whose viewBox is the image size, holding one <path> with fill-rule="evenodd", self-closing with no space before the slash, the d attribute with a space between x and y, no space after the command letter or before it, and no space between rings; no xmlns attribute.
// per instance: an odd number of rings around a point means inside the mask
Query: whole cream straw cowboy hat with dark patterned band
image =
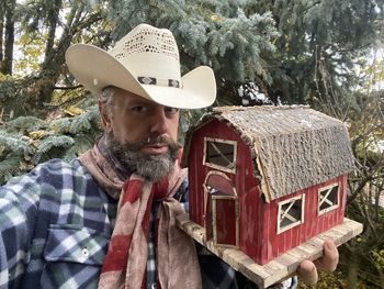
<svg viewBox="0 0 384 289"><path fill-rule="evenodd" d="M76 79L94 93L115 86L180 109L208 107L216 98L213 70L200 66L181 77L172 33L148 24L133 29L109 52L89 44L71 45L66 63Z"/></svg>

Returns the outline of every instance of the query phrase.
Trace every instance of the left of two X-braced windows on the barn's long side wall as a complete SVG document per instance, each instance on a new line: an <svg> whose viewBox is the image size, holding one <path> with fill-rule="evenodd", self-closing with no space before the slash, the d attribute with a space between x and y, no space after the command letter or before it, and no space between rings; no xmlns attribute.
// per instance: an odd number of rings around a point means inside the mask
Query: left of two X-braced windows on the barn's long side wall
<svg viewBox="0 0 384 289"><path fill-rule="evenodd" d="M279 203L278 234L304 222L305 196L297 196Z"/></svg>

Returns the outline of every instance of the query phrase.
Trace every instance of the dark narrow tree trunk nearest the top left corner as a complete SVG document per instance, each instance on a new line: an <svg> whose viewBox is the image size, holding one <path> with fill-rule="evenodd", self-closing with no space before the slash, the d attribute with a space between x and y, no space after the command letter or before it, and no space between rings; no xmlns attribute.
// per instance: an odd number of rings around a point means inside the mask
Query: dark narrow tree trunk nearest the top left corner
<svg viewBox="0 0 384 289"><path fill-rule="evenodd" d="M5 47L2 67L4 75L12 75L13 45L14 45L14 9L16 1L10 0L5 4Z"/></svg>

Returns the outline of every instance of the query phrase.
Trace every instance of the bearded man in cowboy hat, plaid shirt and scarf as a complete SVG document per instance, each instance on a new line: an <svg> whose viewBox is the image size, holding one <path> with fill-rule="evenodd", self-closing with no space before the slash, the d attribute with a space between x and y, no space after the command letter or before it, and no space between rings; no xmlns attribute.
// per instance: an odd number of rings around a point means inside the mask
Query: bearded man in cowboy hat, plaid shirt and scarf
<svg viewBox="0 0 384 289"><path fill-rule="evenodd" d="M78 44L66 59L99 96L104 135L71 164L49 160L0 188L0 288L239 286L174 225L188 201L179 109L213 103L212 70L181 77L173 35L145 24L111 52ZM337 249L324 248L320 266L334 270ZM298 274L317 281L312 262Z"/></svg>

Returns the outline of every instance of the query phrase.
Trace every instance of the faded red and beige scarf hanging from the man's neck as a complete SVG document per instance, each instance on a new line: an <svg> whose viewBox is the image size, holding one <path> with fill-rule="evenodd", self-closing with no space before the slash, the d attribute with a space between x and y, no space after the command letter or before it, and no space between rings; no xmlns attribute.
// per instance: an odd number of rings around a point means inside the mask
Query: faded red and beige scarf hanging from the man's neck
<svg viewBox="0 0 384 289"><path fill-rule="evenodd" d="M160 201L157 213L157 273L162 289L201 288L200 266L193 241L176 225L183 213L172 198L187 175L180 158L173 171L159 182L132 175L121 181L97 145L80 156L98 184L118 198L116 224L102 266L99 288L144 288L148 255L149 216L154 200ZM118 191L121 193L118 193Z"/></svg>

